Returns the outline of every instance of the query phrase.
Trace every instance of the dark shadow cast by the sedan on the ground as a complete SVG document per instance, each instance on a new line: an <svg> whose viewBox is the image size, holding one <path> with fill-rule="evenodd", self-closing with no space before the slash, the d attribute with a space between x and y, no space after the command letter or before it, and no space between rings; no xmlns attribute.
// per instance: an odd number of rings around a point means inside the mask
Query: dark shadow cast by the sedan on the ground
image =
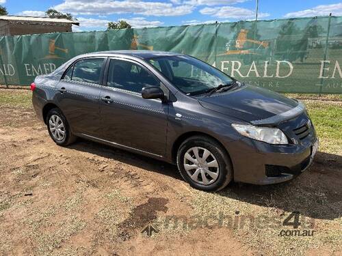
<svg viewBox="0 0 342 256"><path fill-rule="evenodd" d="M83 139L79 139L69 148L118 160L183 181L176 165L167 162ZM266 186L231 182L218 192L218 195L286 212L298 211L310 218L331 220L341 215L341 181L342 157L318 152L313 165L289 182Z"/></svg>

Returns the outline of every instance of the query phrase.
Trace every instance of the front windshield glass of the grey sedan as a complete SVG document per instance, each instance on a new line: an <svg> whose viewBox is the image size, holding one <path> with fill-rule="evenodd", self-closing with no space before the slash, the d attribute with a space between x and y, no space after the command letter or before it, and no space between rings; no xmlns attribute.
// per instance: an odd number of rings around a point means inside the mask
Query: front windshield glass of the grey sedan
<svg viewBox="0 0 342 256"><path fill-rule="evenodd" d="M204 94L214 87L233 82L231 77L213 66L185 55L153 57L147 61L187 95Z"/></svg>

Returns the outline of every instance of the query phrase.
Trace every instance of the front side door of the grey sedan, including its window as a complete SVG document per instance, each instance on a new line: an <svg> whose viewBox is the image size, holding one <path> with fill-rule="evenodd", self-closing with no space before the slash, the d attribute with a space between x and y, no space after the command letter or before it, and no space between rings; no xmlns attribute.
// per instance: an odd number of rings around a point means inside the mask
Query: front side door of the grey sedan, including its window
<svg viewBox="0 0 342 256"><path fill-rule="evenodd" d="M168 104L141 94L145 86L160 86L159 79L135 61L113 58L108 66L100 94L103 138L164 156Z"/></svg>

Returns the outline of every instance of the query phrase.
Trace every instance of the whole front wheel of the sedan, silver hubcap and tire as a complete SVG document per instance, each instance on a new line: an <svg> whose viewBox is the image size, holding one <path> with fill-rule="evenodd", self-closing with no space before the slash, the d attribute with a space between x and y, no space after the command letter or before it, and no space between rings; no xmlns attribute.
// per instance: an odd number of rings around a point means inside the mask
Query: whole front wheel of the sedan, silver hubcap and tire
<svg viewBox="0 0 342 256"><path fill-rule="evenodd" d="M177 165L194 188L218 191L233 177L231 161L222 146L208 137L195 136L179 147Z"/></svg>

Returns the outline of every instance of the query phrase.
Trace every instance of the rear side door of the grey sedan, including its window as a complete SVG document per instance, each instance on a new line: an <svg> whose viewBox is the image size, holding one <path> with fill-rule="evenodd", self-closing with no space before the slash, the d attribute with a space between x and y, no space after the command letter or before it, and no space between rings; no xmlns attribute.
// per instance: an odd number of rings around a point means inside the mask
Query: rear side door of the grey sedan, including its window
<svg viewBox="0 0 342 256"><path fill-rule="evenodd" d="M73 63L57 85L57 102L75 134L99 134L99 94L105 58L91 57Z"/></svg>

